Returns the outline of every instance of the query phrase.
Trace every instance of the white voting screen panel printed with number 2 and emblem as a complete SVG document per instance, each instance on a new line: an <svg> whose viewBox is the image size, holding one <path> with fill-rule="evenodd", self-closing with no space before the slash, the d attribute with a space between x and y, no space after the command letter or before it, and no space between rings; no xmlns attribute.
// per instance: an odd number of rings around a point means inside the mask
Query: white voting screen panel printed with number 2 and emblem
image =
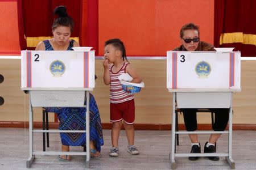
<svg viewBox="0 0 256 170"><path fill-rule="evenodd" d="M22 89L94 88L94 51L22 51Z"/></svg>

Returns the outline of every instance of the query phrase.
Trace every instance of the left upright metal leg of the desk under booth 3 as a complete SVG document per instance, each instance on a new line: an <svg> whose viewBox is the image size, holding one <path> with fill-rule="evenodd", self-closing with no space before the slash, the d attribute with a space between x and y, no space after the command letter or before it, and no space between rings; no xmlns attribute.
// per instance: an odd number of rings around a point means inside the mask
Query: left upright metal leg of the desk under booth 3
<svg viewBox="0 0 256 170"><path fill-rule="evenodd" d="M169 154L169 160L171 163L171 168L176 169L176 163L175 163L175 131L176 131L176 114L175 114L175 96L176 93L173 93L172 96L172 148L171 153Z"/></svg>

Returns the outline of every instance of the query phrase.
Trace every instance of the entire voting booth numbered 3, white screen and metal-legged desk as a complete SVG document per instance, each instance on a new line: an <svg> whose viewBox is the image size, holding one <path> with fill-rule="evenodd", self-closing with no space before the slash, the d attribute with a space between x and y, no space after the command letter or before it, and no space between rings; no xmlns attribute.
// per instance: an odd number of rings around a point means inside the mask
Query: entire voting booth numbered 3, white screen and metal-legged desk
<svg viewBox="0 0 256 170"><path fill-rule="evenodd" d="M176 168L176 157L226 156L231 168L232 159L232 95L241 91L240 52L167 52L167 88L173 93L172 146L170 162ZM175 109L229 108L228 131L175 131ZM175 134L229 134L228 153L175 153Z"/></svg>

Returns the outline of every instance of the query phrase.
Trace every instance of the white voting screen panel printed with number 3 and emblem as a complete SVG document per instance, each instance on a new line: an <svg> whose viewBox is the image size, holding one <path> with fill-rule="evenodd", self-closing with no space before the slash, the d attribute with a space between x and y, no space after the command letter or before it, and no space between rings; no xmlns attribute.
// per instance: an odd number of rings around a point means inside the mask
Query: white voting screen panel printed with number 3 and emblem
<svg viewBox="0 0 256 170"><path fill-rule="evenodd" d="M167 52L167 88L240 90L240 52Z"/></svg>

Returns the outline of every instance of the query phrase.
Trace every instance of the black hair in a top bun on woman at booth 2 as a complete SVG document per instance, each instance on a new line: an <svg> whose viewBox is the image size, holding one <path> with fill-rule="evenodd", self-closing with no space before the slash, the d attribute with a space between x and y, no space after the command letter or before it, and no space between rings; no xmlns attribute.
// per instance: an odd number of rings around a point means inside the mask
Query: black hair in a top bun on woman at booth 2
<svg viewBox="0 0 256 170"><path fill-rule="evenodd" d="M64 27L70 27L71 32L73 31L74 22L73 22L73 19L70 16L68 16L67 7L57 6L54 9L53 13L54 15L57 15L57 18L53 20L52 30L54 30L59 26L64 26Z"/></svg>

